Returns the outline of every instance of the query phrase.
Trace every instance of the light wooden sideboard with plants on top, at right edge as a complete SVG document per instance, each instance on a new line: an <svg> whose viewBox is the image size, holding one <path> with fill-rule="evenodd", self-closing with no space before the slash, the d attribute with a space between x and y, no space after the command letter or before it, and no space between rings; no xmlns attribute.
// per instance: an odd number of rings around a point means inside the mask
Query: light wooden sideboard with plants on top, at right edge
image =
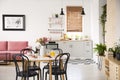
<svg viewBox="0 0 120 80"><path fill-rule="evenodd" d="M105 59L105 76L107 80L120 80L120 61L112 56Z"/></svg>

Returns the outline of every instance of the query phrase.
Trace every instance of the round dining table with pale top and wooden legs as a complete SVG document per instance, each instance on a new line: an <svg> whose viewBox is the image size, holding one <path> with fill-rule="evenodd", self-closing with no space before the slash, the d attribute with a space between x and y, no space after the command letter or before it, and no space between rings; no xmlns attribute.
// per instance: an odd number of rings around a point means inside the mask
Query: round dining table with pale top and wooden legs
<svg viewBox="0 0 120 80"><path fill-rule="evenodd" d="M55 60L55 57L49 57L49 56L33 56L25 54L30 62L38 62L38 65L40 66L40 62L47 62L49 63L49 80L52 80L52 62Z"/></svg>

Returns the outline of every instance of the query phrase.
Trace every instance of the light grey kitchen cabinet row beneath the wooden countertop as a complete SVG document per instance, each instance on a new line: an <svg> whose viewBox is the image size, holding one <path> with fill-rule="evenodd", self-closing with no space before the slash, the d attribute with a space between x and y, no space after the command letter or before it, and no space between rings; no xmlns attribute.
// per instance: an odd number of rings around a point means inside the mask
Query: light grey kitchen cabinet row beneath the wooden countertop
<svg viewBox="0 0 120 80"><path fill-rule="evenodd" d="M92 41L68 40L57 41L63 52L69 52L72 57L91 59L93 57Z"/></svg>

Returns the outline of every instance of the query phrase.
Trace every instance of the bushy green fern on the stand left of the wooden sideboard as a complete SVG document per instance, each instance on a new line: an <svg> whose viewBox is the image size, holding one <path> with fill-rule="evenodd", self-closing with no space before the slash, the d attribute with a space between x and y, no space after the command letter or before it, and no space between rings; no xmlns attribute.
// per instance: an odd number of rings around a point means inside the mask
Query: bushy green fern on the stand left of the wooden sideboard
<svg viewBox="0 0 120 80"><path fill-rule="evenodd" d="M104 56L106 50L107 50L106 45L102 43L96 44L96 47L94 48L94 51L97 52L99 56Z"/></svg>

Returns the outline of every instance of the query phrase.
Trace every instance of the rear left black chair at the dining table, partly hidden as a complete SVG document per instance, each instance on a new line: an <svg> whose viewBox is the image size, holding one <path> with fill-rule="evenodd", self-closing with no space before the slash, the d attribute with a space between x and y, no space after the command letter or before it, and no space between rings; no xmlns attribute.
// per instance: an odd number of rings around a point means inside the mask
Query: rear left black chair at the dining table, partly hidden
<svg viewBox="0 0 120 80"><path fill-rule="evenodd" d="M28 52L30 54L34 54L35 53L35 51L33 49L31 49L31 48L25 48L25 49L22 49L20 51L21 54L26 54ZM41 68L40 68L40 66L37 66L37 64L35 62L33 62L33 64L30 64L29 69L33 70L33 71L38 71L39 74L40 74L40 78L41 78Z"/></svg>

